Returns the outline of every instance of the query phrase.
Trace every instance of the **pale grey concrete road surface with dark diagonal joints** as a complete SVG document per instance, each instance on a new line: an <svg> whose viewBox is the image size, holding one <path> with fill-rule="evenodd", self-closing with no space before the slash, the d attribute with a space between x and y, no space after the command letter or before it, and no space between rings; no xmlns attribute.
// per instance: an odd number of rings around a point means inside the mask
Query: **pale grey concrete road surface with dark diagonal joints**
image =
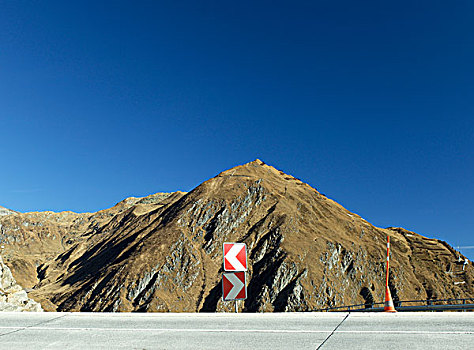
<svg viewBox="0 0 474 350"><path fill-rule="evenodd" d="M0 313L0 349L473 349L474 313Z"/></svg>

